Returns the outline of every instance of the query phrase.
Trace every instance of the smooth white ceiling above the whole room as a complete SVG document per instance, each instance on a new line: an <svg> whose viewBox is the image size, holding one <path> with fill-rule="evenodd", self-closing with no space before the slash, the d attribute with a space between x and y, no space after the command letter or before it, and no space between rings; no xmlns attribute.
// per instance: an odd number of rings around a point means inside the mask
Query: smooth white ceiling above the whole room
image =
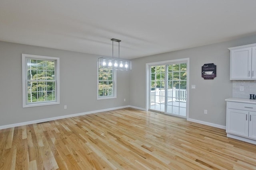
<svg viewBox="0 0 256 170"><path fill-rule="evenodd" d="M126 59L255 33L256 0L0 0L0 41Z"/></svg>

